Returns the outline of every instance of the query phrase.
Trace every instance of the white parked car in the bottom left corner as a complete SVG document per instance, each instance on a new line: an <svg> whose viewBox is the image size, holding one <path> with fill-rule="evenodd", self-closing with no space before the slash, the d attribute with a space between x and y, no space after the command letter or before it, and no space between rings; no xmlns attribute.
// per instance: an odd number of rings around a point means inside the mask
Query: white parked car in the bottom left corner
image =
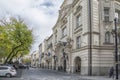
<svg viewBox="0 0 120 80"><path fill-rule="evenodd" d="M17 72L12 66L0 66L0 76L12 77L16 74Z"/></svg>

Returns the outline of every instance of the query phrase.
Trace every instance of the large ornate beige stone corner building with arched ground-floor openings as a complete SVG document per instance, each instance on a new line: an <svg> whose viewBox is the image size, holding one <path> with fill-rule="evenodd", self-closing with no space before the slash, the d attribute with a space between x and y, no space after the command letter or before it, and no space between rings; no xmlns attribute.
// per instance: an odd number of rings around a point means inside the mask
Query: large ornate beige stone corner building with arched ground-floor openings
<svg viewBox="0 0 120 80"><path fill-rule="evenodd" d="M119 27L119 0L64 0L53 27L51 66L81 75L107 75L115 64L115 14Z"/></svg>

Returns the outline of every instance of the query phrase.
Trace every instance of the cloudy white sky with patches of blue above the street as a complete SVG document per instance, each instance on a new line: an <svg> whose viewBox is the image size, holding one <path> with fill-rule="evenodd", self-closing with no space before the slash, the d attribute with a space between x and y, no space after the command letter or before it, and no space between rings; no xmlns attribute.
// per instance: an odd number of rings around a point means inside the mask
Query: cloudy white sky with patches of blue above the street
<svg viewBox="0 0 120 80"><path fill-rule="evenodd" d="M31 52L52 34L63 0L0 0L0 19L20 17L33 30Z"/></svg>

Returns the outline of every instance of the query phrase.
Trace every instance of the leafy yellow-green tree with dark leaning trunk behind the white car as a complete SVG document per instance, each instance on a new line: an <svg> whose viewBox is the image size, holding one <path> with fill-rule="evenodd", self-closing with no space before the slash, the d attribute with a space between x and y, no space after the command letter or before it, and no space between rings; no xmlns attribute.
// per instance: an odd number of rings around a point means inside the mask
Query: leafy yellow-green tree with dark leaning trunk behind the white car
<svg viewBox="0 0 120 80"><path fill-rule="evenodd" d="M20 19L11 18L9 21L1 21L1 33L3 35L0 50L2 57L6 57L4 63L10 62L17 55L28 54L33 42L32 30Z"/></svg>

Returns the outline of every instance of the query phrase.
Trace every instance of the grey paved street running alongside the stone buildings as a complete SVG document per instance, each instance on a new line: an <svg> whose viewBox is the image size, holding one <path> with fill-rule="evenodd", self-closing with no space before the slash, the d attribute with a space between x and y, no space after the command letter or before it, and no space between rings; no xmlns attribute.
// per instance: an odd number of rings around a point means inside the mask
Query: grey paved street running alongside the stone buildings
<svg viewBox="0 0 120 80"><path fill-rule="evenodd" d="M23 69L21 77L12 78L1 77L0 80L89 80L89 79L80 79L80 76L76 74L68 74L53 70L30 68L29 70Z"/></svg>

